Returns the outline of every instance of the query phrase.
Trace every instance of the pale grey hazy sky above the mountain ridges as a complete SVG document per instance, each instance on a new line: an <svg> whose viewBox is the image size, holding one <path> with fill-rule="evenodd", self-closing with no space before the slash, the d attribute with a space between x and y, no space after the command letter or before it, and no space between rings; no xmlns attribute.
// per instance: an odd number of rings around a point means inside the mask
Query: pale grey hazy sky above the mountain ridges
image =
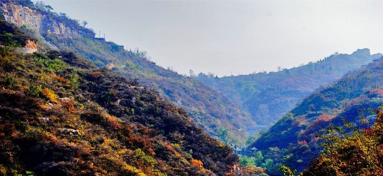
<svg viewBox="0 0 383 176"><path fill-rule="evenodd" d="M379 0L43 1L180 74L249 74L358 48L383 52Z"/></svg>

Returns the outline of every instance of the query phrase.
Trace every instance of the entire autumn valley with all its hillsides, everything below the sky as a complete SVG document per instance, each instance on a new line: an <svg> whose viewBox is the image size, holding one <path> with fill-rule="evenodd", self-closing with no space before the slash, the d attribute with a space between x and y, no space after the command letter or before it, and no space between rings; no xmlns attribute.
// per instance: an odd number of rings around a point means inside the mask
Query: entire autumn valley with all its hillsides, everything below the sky
<svg viewBox="0 0 383 176"><path fill-rule="evenodd" d="M0 14L0 176L383 173L381 53L181 75L44 2Z"/></svg>

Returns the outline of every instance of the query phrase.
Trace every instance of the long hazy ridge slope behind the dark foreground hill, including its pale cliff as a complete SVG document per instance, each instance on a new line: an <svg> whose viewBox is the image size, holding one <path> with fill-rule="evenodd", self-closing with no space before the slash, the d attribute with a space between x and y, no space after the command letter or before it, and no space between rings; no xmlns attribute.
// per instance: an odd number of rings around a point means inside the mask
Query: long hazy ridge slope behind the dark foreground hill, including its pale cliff
<svg viewBox="0 0 383 176"><path fill-rule="evenodd" d="M6 21L24 26L25 31L49 42L52 48L75 52L93 61L96 66L109 66L112 70L159 91L162 97L169 99L175 106L184 108L199 127L213 136L219 136L219 130L231 129L234 133L233 139L245 139L247 134L242 129L255 125L222 92L156 66L148 59L146 52L138 49L127 51L118 44L95 38L94 34L89 33L91 29L80 26L78 21L67 18L65 14L44 10L45 6L38 8L33 3L15 5L9 1L3 2L0 12L5 14ZM16 12L21 14L20 19ZM41 19L47 19L47 23L41 22Z"/></svg>

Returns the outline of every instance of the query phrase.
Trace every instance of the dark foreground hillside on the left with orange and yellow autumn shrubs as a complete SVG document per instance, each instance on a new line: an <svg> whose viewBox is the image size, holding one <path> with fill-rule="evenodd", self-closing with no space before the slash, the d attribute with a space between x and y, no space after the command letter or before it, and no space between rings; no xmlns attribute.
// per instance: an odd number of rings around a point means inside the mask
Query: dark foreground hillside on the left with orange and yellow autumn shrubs
<svg viewBox="0 0 383 176"><path fill-rule="evenodd" d="M72 52L0 47L0 87L0 175L235 175L236 154L185 110Z"/></svg>

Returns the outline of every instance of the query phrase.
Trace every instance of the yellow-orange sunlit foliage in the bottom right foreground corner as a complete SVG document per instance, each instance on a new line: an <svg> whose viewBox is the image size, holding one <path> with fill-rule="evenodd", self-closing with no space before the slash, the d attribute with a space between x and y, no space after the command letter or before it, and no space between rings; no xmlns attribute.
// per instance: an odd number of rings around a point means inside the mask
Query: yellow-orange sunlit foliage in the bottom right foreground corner
<svg viewBox="0 0 383 176"><path fill-rule="evenodd" d="M376 121L371 124L362 117L365 128L345 122L352 133L334 128L324 136L324 149L305 176L382 176L383 175L383 112L373 111Z"/></svg>

